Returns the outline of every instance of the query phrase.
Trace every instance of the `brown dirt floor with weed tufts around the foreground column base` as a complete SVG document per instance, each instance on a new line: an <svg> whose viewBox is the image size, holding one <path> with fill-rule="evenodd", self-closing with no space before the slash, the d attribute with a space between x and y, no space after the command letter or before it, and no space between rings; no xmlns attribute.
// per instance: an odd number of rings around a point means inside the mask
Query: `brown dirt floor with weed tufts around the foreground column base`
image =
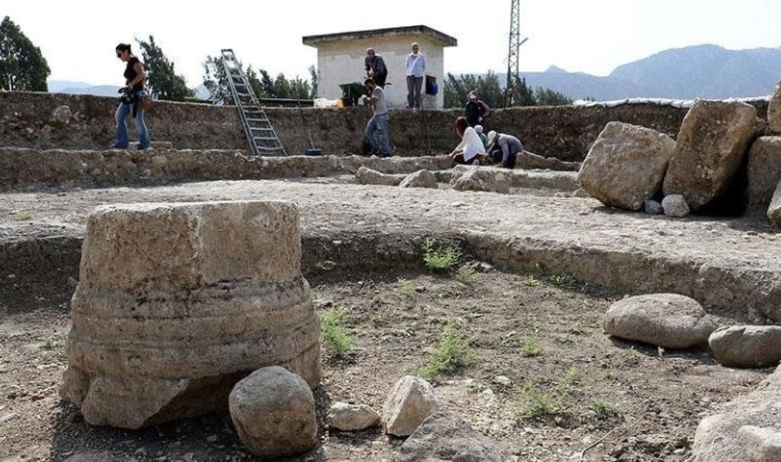
<svg viewBox="0 0 781 462"><path fill-rule="evenodd" d="M583 450L582 460L686 460L699 419L770 372L722 368L705 347L663 351L611 339L601 313L622 294L589 290L567 275L490 271L464 280L426 271L310 278L316 310L343 312L355 344L341 356L323 344L320 417L336 400L381 410L394 382L430 361L451 332L475 359L433 378L435 392L508 460L581 460ZM71 290L0 310L10 313L0 318L0 460L251 458L227 414L130 432L91 427L62 403ZM320 441L299 460L391 460L402 442L379 429L323 429Z"/></svg>

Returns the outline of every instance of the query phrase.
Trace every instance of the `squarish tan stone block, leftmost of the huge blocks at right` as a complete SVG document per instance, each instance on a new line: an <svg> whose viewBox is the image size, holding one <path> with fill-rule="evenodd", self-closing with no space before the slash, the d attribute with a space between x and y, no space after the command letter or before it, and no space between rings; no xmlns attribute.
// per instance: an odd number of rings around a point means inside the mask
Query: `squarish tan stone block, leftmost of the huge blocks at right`
<svg viewBox="0 0 781 462"><path fill-rule="evenodd" d="M591 147L578 180L603 204L640 210L662 186L676 142L664 133L611 122Z"/></svg>

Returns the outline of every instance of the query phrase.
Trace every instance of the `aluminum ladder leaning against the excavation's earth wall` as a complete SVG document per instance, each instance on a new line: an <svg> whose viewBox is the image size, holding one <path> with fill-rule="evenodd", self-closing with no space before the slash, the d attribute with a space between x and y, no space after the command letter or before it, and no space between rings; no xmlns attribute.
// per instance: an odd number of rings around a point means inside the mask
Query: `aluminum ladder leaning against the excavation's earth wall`
<svg viewBox="0 0 781 462"><path fill-rule="evenodd" d="M224 49L223 68L230 87L230 94L238 109L244 133L253 155L287 155L280 137L271 125L266 112L260 107L260 100L252 90L244 70L236 59L234 51Z"/></svg>

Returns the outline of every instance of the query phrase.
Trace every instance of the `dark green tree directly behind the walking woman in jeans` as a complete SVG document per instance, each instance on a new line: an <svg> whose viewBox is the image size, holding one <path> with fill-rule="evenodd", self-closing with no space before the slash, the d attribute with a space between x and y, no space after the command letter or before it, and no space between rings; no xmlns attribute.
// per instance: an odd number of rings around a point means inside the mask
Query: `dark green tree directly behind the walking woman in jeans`
<svg viewBox="0 0 781 462"><path fill-rule="evenodd" d="M184 76L177 75L173 70L173 62L155 43L155 37L149 36L149 41L136 39L144 57L144 70L147 73L147 84L152 98L166 101L184 101L194 96L194 91L187 88Z"/></svg>

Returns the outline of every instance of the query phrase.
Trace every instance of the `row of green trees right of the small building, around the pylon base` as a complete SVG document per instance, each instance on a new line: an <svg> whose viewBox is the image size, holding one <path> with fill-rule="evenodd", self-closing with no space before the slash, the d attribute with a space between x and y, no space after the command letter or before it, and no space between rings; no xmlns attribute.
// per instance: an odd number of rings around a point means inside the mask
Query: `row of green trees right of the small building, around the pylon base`
<svg viewBox="0 0 781 462"><path fill-rule="evenodd" d="M514 77L513 106L539 105L571 105L572 99L558 91L547 88L532 89L526 84L526 79ZM492 108L505 106L505 88L501 87L499 78L493 71L484 76L462 74L454 76L448 73L444 82L444 107L462 108L470 91L475 91L481 100Z"/></svg>

